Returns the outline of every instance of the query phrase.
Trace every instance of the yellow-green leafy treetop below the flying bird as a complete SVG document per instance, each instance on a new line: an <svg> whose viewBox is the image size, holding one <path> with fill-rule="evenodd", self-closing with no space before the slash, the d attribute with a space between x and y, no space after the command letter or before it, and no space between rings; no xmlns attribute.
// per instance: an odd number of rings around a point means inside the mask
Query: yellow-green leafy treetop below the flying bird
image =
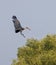
<svg viewBox="0 0 56 65"><path fill-rule="evenodd" d="M24 47L18 48L12 65L56 65L56 35L28 39Z"/></svg>

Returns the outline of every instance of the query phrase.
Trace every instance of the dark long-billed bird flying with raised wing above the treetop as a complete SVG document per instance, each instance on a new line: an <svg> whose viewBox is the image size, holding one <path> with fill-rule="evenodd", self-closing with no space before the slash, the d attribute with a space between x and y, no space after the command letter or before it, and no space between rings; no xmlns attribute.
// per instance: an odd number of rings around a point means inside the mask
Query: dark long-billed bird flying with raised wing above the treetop
<svg viewBox="0 0 56 65"><path fill-rule="evenodd" d="M31 30L29 27L22 27L20 21L17 19L15 15L12 16L12 21L14 23L15 33L20 32L20 34L25 38L25 35L22 33L23 30Z"/></svg>

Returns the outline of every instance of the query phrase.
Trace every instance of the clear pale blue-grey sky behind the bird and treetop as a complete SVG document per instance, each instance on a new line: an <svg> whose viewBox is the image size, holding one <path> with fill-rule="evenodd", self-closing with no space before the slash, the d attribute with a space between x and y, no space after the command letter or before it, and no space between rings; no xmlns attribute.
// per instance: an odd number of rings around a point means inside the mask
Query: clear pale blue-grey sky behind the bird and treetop
<svg viewBox="0 0 56 65"><path fill-rule="evenodd" d="M13 15L23 27L31 28L23 32L26 38L15 34ZM47 34L56 34L56 0L0 0L0 65L10 65L27 38L41 39Z"/></svg>

